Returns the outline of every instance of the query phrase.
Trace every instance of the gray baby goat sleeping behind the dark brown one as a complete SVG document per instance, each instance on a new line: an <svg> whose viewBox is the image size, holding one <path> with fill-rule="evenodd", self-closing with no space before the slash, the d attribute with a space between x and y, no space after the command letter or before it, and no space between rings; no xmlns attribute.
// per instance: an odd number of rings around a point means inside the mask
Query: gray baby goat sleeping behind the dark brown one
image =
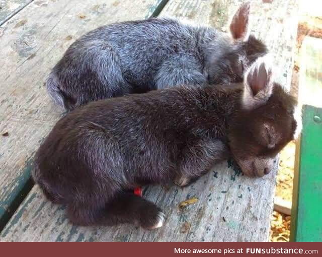
<svg viewBox="0 0 322 257"><path fill-rule="evenodd" d="M239 7L231 37L215 28L175 19L107 25L76 40L53 68L47 90L66 110L128 93L177 85L243 81L244 71L267 52L248 36L250 3Z"/></svg>

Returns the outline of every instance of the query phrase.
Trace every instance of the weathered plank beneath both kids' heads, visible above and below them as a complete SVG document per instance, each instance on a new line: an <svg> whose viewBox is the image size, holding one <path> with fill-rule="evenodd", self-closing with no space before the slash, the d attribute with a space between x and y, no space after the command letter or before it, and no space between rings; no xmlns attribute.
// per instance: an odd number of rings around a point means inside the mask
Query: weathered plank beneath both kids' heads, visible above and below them
<svg viewBox="0 0 322 257"><path fill-rule="evenodd" d="M229 17L241 1L170 0L160 15L185 17L193 21L227 27ZM292 50L296 38L296 0L252 2L251 28L272 50L281 67L280 80L290 87ZM282 22L283 21L283 22ZM277 26L276 24L280 24ZM181 189L148 187L144 197L167 214L164 227L145 231L133 225L76 227L64 216L63 207L47 202L34 187L15 213L0 239L3 241L266 241L276 170L262 179L247 178L233 170L230 162L217 165L193 185ZM181 201L199 201L183 210Z"/></svg>

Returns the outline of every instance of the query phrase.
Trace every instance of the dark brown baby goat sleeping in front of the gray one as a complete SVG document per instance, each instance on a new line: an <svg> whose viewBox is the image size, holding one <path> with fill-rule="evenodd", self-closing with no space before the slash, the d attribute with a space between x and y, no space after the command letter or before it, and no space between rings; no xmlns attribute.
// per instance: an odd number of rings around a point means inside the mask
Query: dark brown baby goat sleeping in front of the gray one
<svg viewBox="0 0 322 257"><path fill-rule="evenodd" d="M300 131L296 101L260 58L233 88L175 87L92 102L61 118L36 154L34 180L80 225L147 229L165 215L137 186L184 186L232 155L246 175L268 174Z"/></svg>

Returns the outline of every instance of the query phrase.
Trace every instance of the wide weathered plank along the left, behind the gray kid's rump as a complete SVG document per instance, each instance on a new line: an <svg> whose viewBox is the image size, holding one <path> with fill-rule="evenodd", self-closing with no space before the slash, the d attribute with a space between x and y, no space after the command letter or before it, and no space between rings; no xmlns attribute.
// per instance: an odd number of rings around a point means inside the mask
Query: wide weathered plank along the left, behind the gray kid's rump
<svg viewBox="0 0 322 257"><path fill-rule="evenodd" d="M75 38L98 26L151 16L163 0L34 1L0 28L0 228L28 183L32 157L62 110L45 77Z"/></svg>

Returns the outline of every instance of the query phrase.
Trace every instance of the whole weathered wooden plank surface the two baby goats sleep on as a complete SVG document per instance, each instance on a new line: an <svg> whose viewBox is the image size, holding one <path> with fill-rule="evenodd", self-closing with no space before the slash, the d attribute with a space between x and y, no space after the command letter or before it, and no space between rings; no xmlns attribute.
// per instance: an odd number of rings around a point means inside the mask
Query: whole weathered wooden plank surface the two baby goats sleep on
<svg viewBox="0 0 322 257"><path fill-rule="evenodd" d="M143 197L167 214L165 226L154 231L128 224L73 226L64 216L64 207L47 202L30 183L34 153L62 115L49 101L44 81L76 38L104 24L152 15L182 17L225 31L243 1L7 2L0 12L0 134L9 134L0 136L0 228L4 227L0 241L268 240L276 172L251 179L224 162L184 189L148 187ZM297 1L263 2L252 2L252 33L266 42L280 81L290 87ZM178 204L191 197L198 202L180 210Z"/></svg>

